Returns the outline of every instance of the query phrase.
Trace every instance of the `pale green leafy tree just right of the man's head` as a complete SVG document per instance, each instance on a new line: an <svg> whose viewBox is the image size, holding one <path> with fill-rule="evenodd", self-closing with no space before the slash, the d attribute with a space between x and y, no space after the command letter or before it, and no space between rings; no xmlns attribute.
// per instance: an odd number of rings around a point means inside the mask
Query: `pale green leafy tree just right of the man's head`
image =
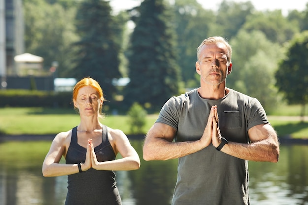
<svg viewBox="0 0 308 205"><path fill-rule="evenodd" d="M260 31L244 30L230 44L233 69L227 77L227 86L256 97L270 111L279 100L274 73L283 56L280 46L267 40Z"/></svg>

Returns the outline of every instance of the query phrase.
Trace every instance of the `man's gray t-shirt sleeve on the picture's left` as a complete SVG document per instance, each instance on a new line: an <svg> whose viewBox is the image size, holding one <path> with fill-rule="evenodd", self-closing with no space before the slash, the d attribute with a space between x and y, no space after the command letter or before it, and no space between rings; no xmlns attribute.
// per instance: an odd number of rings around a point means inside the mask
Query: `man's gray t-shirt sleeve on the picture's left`
<svg viewBox="0 0 308 205"><path fill-rule="evenodd" d="M178 130L180 104L177 97L170 98L160 110L156 123L167 124Z"/></svg>

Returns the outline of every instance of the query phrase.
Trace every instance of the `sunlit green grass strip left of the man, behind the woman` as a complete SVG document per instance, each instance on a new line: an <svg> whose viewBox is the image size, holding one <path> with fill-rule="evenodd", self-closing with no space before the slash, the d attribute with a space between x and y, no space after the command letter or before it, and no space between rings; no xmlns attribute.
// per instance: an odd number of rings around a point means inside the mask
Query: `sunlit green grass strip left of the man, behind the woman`
<svg viewBox="0 0 308 205"><path fill-rule="evenodd" d="M144 133L158 115L148 115ZM57 134L79 124L79 115L72 109L0 108L0 133L2 134ZM101 122L111 128L130 133L129 117L106 115Z"/></svg>

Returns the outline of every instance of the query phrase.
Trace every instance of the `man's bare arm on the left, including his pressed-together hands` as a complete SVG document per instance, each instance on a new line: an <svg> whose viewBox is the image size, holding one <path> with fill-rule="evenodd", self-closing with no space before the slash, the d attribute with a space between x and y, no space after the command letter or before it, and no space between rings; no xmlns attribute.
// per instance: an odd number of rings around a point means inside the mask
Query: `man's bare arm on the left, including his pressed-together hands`
<svg viewBox="0 0 308 205"><path fill-rule="evenodd" d="M199 140L173 142L177 130L163 123L155 123L147 133L143 146L145 160L176 159L200 151L211 143L218 147L222 136L219 130L217 106L212 106L206 127Z"/></svg>

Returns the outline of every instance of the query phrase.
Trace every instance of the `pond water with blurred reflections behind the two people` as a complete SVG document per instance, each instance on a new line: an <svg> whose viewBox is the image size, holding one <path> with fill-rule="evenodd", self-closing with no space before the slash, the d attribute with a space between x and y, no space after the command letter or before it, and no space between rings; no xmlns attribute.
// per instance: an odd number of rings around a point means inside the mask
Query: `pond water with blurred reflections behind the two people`
<svg viewBox="0 0 308 205"><path fill-rule="evenodd" d="M142 158L142 141L132 145ZM41 165L51 142L0 144L0 205L63 205L67 176L44 178ZM123 205L170 205L177 160L145 162L117 172ZM282 145L278 163L249 162L253 205L308 205L308 146ZM193 173L192 173L193 175Z"/></svg>

